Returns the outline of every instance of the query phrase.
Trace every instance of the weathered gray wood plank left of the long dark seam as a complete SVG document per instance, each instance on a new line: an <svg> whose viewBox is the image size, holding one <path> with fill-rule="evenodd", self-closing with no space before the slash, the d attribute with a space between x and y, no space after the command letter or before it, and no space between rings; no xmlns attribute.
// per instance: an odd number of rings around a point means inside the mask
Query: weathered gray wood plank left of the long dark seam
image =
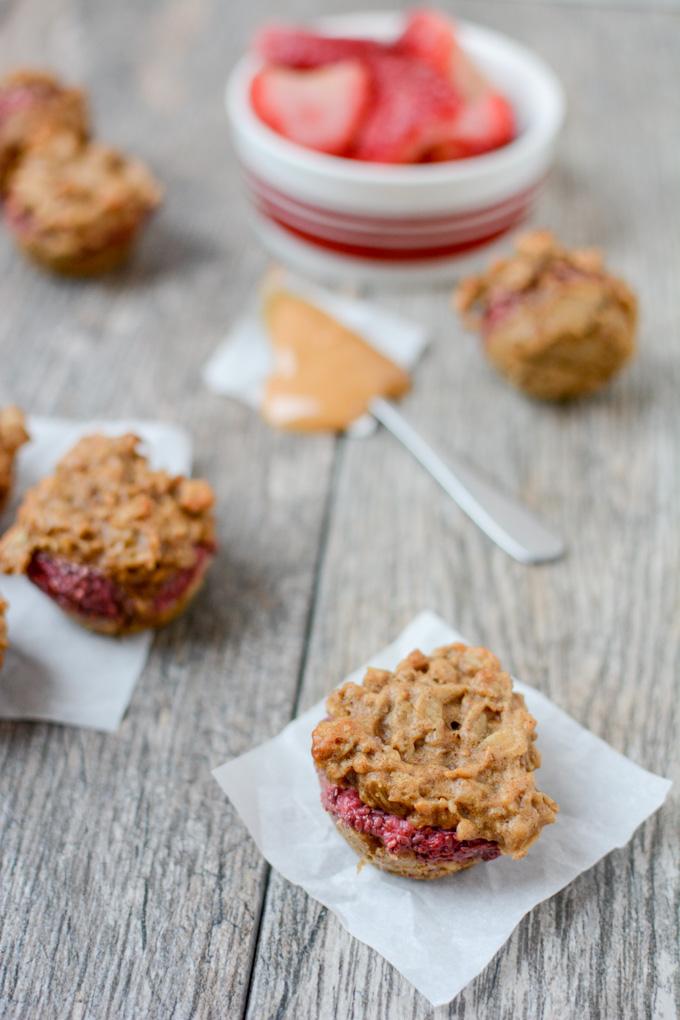
<svg viewBox="0 0 680 1020"><path fill-rule="evenodd" d="M11 1020L233 1017L248 986L265 868L210 769L290 718L333 442L276 436L199 379L265 264L245 243L221 109L238 22L133 0L22 2L0 22L0 67L83 76L102 134L168 189L140 259L108 282L51 280L0 240L0 402L187 424L222 549L118 733L0 723Z"/></svg>

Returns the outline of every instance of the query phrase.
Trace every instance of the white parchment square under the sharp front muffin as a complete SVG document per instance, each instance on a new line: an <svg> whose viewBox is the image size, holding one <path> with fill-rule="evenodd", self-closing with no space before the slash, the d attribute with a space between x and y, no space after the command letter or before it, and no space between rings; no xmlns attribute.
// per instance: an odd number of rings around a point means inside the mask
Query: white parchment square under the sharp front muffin
<svg viewBox="0 0 680 1020"><path fill-rule="evenodd" d="M367 665L393 668L414 648L462 641L421 613ZM359 681L365 666L348 679ZM261 853L285 878L331 910L434 1006L450 1002L489 962L522 917L590 868L663 803L671 786L584 729L543 695L516 682L538 721L537 781L560 805L522 861L500 858L432 882L366 866L321 809L310 754L320 702L278 736L214 775Z"/></svg>

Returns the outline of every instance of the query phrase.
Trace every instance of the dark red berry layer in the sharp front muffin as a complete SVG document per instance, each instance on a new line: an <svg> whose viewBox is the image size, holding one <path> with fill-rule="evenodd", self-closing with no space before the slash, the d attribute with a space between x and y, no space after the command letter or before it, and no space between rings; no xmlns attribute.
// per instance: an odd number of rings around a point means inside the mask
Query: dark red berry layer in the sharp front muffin
<svg viewBox="0 0 680 1020"><path fill-rule="evenodd" d="M332 786L321 779L321 804L343 824L377 839L390 854L415 854L423 861L493 861L499 845L488 839L459 840L450 829L416 828L398 815L364 804L352 786Z"/></svg>

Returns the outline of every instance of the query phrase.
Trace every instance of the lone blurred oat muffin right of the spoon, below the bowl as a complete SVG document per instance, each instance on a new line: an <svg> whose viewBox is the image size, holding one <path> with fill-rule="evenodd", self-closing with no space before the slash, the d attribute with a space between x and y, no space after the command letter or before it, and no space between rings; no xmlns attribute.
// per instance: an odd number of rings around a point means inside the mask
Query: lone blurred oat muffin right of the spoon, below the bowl
<svg viewBox="0 0 680 1020"><path fill-rule="evenodd" d="M594 393L635 351L633 292L600 252L564 248L547 231L524 235L515 255L464 279L455 304L495 368L542 400Z"/></svg>

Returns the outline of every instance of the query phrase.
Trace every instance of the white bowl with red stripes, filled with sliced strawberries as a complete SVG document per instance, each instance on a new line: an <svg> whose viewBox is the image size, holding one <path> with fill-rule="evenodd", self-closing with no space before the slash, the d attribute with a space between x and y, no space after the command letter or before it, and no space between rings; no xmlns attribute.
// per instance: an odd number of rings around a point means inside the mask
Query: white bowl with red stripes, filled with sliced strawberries
<svg viewBox="0 0 680 1020"><path fill-rule="evenodd" d="M263 72L295 72L302 86L320 71L334 80L348 60L367 70L368 99L330 145L318 132L316 148L292 143L293 133L272 131L254 105ZM414 270L450 279L461 257L516 226L553 161L564 106L560 83L534 53L427 11L269 28L226 92L261 241L303 273L352 282L358 272L412 279ZM505 144L509 109L517 131ZM346 112L333 111L332 122Z"/></svg>

